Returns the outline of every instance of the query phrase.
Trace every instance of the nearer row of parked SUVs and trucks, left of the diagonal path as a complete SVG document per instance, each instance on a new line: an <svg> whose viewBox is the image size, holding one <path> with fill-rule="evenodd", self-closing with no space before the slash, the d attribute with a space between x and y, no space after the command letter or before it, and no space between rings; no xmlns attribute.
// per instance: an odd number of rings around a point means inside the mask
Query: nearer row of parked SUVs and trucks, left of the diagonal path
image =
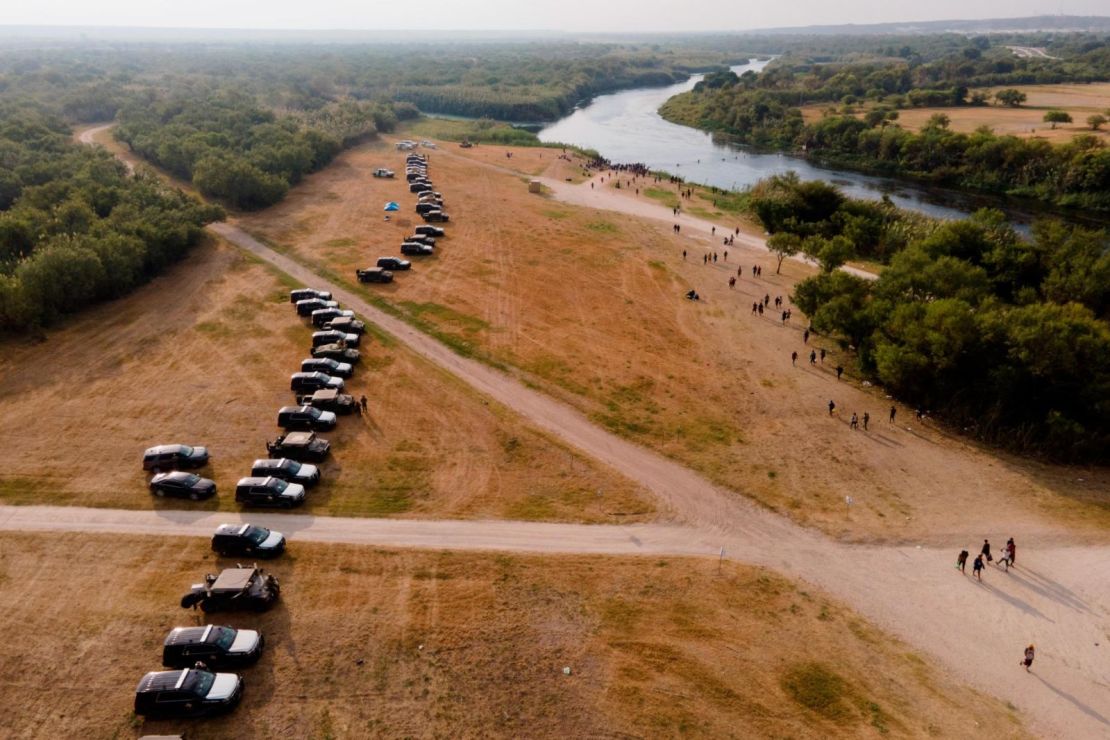
<svg viewBox="0 0 1110 740"><path fill-rule="evenodd" d="M251 475L235 485L235 500L244 505L303 503L305 489L320 481L320 469L312 463L326 459L331 449L315 433L334 428L337 414L356 408L354 397L343 393L344 378L351 377L359 362L354 347L365 324L353 312L340 308L331 293L301 288L290 293L290 302L319 331L312 334L312 356L290 378L297 405L278 412L278 425L285 434L266 443L271 457L254 460ZM155 495L199 500L215 495L215 483L188 469L203 467L209 459L204 447L159 445L143 454L143 469L155 474L150 484ZM223 524L212 536L212 549L222 557L278 557L285 551L285 536L252 524ZM258 565L236 565L193 584L181 598L181 607L199 607L205 614L265 611L280 596L281 584L273 575ZM258 630L218 625L172 629L162 642L162 665L172 670L143 676L135 688L135 714L182 718L231 711L242 699L243 677L219 670L253 665L264 646L265 638Z"/></svg>

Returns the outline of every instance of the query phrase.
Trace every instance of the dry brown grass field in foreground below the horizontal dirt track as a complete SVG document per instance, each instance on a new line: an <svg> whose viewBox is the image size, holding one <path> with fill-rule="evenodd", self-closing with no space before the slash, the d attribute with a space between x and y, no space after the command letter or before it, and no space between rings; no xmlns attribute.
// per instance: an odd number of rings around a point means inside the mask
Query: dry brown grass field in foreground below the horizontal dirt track
<svg viewBox="0 0 1110 740"><path fill-rule="evenodd" d="M0 736L1027 737L1001 702L756 568L302 544L272 566L274 609L212 620L266 637L236 712L134 718L164 635L203 624L178 599L221 565L196 539L0 535Z"/></svg>

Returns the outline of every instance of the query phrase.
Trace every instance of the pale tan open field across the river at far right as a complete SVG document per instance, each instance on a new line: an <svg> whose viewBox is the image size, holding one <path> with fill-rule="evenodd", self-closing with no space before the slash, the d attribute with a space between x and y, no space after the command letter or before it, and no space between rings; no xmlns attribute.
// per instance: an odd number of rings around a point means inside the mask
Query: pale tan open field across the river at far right
<svg viewBox="0 0 1110 740"><path fill-rule="evenodd" d="M982 92L993 99L995 93L1001 89L989 88ZM932 115L944 113L951 119L951 130L965 133L988 126L997 134L1046 139L1056 144L1069 142L1078 134L1093 134L1103 141L1110 141L1110 130L1107 126L1091 131L1087 125L1087 116L1110 109L1110 83L1018 85L1018 90L1028 95L1021 108L908 108L898 111L898 124L917 131ZM828 105L806 105L801 113L807 122L811 122L821 118L827 109ZM1056 129L1050 123L1045 123L1045 112L1053 109L1070 113L1072 123L1060 123Z"/></svg>

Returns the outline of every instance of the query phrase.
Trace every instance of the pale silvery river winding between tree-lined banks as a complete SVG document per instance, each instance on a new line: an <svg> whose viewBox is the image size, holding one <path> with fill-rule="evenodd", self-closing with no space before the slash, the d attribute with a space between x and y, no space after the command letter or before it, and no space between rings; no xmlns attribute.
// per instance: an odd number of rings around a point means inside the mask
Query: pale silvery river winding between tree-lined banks
<svg viewBox="0 0 1110 740"><path fill-rule="evenodd" d="M766 61L751 60L731 68L737 74L758 72ZM728 190L793 170L803 180L825 180L854 197L879 200L888 195L897 205L941 219L959 219L983 205L1000 207L990 199L916 187L884 178L820 168L787 154L757 153L714 141L712 134L665 121L659 107L670 97L694 88L704 75L666 88L637 88L599 95L589 104L552 123L538 133L541 141L594 149L616 163L643 163L676 174L688 182ZM1022 213L1005 209L1018 222Z"/></svg>

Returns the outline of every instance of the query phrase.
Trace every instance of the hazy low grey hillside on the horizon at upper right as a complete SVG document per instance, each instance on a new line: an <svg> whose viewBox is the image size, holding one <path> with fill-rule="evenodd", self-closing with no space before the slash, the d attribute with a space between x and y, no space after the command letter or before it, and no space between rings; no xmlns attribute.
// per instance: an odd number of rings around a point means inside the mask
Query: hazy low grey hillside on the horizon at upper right
<svg viewBox="0 0 1110 740"><path fill-rule="evenodd" d="M798 26L745 31L746 34L889 36L891 33L1001 33L1013 31L1110 32L1110 16L1031 16L985 20L907 21L899 23L845 23Z"/></svg>

